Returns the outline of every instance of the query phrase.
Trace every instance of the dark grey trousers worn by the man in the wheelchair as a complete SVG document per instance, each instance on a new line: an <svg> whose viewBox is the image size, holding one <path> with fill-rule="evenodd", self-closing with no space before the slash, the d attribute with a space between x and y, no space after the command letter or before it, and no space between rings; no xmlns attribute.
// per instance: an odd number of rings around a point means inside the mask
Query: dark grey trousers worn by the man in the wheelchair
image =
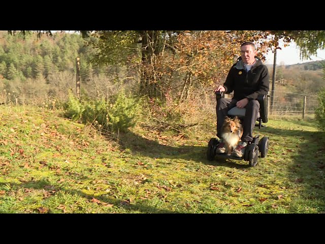
<svg viewBox="0 0 325 244"><path fill-rule="evenodd" d="M218 100L216 105L217 137L221 138L224 117L228 114L230 109L236 107L236 103L237 101L235 99L220 98ZM249 142L253 140L253 129L259 112L259 103L257 100L250 100L245 108L245 117L241 119L243 125L243 136L241 140Z"/></svg>

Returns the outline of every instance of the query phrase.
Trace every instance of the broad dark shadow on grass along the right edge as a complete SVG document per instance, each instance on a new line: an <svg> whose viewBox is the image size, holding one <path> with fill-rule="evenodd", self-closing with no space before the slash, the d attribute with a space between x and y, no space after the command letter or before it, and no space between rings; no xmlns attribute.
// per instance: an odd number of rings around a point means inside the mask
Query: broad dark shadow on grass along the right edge
<svg viewBox="0 0 325 244"><path fill-rule="evenodd" d="M291 123L291 121L290 121ZM300 126L310 126L310 123L293 123L297 128ZM288 177L293 184L301 187L300 197L306 201L305 207L316 207L320 211L325 210L325 132L305 131L299 129L275 129L265 128L265 134L269 136L269 148L272 148L272 137L278 137L277 144L282 145L285 153L283 158L290 158L292 162L286 165L283 170L288 171ZM286 145L281 142L281 138L291 137L293 144ZM297 151L298 155L293 155ZM292 155L291 155L292 154Z"/></svg>

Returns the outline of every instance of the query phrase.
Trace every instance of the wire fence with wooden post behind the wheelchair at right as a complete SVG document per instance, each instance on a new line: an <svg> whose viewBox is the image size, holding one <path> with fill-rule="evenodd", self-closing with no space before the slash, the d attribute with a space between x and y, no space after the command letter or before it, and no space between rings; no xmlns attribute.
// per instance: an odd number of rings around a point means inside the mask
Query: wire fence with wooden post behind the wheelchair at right
<svg viewBox="0 0 325 244"><path fill-rule="evenodd" d="M316 95L282 92L274 90L270 97L270 115L314 114L318 106Z"/></svg>

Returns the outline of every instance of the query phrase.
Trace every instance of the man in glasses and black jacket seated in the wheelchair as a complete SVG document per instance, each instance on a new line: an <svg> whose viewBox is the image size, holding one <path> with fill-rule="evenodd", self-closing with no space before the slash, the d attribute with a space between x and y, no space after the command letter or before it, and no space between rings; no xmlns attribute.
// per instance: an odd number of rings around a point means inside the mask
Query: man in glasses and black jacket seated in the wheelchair
<svg viewBox="0 0 325 244"><path fill-rule="evenodd" d="M228 110L237 106L246 108L245 117L242 121L243 135L241 142L232 153L232 156L242 157L245 147L253 140L253 129L259 112L259 103L256 100L259 94L268 94L269 92L269 72L263 65L261 59L256 56L256 47L251 42L244 42L240 46L240 57L237 63L232 66L223 85L218 86L215 92L231 93L234 91L232 99L219 99L217 112L217 137L221 138L222 123ZM219 140L217 154L223 154L225 151L222 138Z"/></svg>

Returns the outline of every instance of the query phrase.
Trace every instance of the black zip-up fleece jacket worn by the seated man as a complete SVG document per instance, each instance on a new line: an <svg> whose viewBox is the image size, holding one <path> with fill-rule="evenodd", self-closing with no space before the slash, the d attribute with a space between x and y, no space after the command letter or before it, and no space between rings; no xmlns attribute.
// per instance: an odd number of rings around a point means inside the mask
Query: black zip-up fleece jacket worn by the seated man
<svg viewBox="0 0 325 244"><path fill-rule="evenodd" d="M223 84L226 93L234 91L233 99L237 101L244 98L255 100L259 94L269 92L269 72L261 59L255 56L256 63L247 72L241 57L230 69Z"/></svg>

